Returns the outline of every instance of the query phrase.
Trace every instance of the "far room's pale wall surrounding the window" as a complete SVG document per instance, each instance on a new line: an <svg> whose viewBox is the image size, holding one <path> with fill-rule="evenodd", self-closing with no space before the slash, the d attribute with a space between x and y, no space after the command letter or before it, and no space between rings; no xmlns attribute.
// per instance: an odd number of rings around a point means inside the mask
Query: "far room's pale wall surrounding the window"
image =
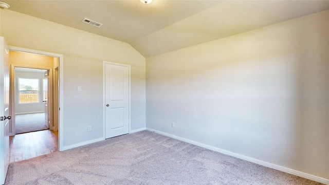
<svg viewBox="0 0 329 185"><path fill-rule="evenodd" d="M44 73L40 72L15 72L15 114L41 113L45 112L43 101L43 80ZM38 103L20 103L19 78L39 79L39 102Z"/></svg>

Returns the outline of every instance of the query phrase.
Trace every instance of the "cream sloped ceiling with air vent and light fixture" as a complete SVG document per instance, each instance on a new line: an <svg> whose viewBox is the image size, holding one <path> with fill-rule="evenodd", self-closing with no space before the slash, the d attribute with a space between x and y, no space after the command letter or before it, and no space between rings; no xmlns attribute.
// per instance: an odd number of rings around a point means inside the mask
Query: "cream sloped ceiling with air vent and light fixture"
<svg viewBox="0 0 329 185"><path fill-rule="evenodd" d="M132 45L145 58L329 9L329 1L2 1L10 10ZM102 23L100 28L83 18Z"/></svg>

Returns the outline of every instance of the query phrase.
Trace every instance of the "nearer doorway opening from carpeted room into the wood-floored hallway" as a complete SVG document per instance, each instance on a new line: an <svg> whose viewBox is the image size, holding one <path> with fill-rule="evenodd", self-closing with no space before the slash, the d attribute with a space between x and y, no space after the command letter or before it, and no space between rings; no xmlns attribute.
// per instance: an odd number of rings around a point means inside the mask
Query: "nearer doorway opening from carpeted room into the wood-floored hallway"
<svg viewBox="0 0 329 185"><path fill-rule="evenodd" d="M10 155L14 156L10 161L60 151L59 128L62 121L59 112L62 95L60 72L62 72L63 56L18 47L9 47L9 49L10 103L11 115L14 115L9 129ZM31 143L22 144L20 143L22 141ZM30 148L34 146L33 150L38 148L38 151L33 152L34 156L26 155L24 152L30 152L30 149L23 149L22 145ZM19 156L27 156L27 158Z"/></svg>

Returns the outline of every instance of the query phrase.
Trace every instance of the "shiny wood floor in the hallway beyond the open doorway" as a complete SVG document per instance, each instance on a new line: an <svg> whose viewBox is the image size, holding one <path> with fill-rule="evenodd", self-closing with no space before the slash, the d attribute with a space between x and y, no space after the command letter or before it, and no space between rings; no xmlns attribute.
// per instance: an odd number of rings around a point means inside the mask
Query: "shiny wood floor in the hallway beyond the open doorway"
<svg viewBox="0 0 329 185"><path fill-rule="evenodd" d="M10 162L21 161L58 151L58 133L50 130L9 137Z"/></svg>

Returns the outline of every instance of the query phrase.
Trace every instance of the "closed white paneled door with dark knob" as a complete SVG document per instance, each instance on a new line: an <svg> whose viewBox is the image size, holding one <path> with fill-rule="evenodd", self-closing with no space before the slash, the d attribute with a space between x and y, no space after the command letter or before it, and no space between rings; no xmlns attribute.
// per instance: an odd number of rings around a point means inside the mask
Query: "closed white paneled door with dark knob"
<svg viewBox="0 0 329 185"><path fill-rule="evenodd" d="M130 66L104 62L105 139L129 133Z"/></svg>

